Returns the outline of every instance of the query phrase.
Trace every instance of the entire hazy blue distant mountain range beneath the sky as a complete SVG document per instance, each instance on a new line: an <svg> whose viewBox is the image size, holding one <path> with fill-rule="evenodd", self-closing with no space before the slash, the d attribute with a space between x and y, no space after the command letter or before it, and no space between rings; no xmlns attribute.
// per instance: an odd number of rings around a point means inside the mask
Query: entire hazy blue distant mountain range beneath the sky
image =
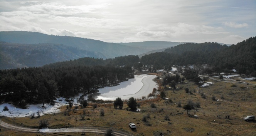
<svg viewBox="0 0 256 136"><path fill-rule="evenodd" d="M115 58L140 55L148 51L176 46L185 42L143 41L107 43L72 36L47 35L37 32L0 32L0 69L42 66L82 57ZM7 43L5 43L7 42Z"/></svg>

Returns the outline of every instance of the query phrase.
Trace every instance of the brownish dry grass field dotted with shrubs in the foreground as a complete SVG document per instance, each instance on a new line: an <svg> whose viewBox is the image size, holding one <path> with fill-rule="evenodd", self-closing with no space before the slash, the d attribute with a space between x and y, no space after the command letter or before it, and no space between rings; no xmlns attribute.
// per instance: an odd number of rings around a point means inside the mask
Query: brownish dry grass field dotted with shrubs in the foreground
<svg viewBox="0 0 256 136"><path fill-rule="evenodd" d="M218 78L216 78L219 80ZM256 135L256 121L246 122L243 120L248 115L256 115L256 82L246 81L248 84L239 84L240 80L234 78L236 83L227 83L209 79L213 85L207 87L198 87L194 82L185 80L184 83L177 85L179 89L166 89L161 87L166 98L161 99L158 96L155 100L137 101L141 103L139 112L127 111L127 105L123 109L115 109L113 104L98 104L93 108L89 104L87 108L79 108L76 111L61 108L61 113L47 114L40 118L6 118L1 120L26 127L37 128L39 121L47 119L49 128L71 128L80 126L100 126L111 127L113 130L124 130L134 136L219 136L219 135ZM227 80L225 80L227 81ZM230 80L229 80L230 81ZM168 88L168 86L167 86ZM185 93L185 88L189 88L192 94ZM206 98L202 98L203 92ZM215 96L218 100L212 100ZM177 107L180 101L181 105L187 101L200 103L200 107L187 111L182 107ZM156 108L152 108L154 103ZM100 116L100 111L104 110L104 116ZM64 112L69 115L64 116ZM84 119L80 114L86 113ZM195 117L197 115L198 117ZM225 119L230 115L229 119ZM146 121L143 121L143 116ZM135 123L136 129L130 129L128 124ZM21 133L13 130L2 129L3 135L81 135L81 133ZM86 136L103 135L96 133L86 133Z"/></svg>

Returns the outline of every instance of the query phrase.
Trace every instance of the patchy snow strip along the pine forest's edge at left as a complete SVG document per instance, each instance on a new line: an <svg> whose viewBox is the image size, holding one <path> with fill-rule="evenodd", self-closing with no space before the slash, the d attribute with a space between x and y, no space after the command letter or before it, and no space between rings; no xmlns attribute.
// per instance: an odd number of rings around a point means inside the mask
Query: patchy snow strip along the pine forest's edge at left
<svg viewBox="0 0 256 136"><path fill-rule="evenodd" d="M78 96L76 96L73 100L74 100L74 105L77 105L79 103L77 103L77 98L79 98L81 95L83 95L82 93L80 93ZM13 105L12 103L3 103L0 104L0 116L6 116L6 117L26 117L26 116L30 116L32 113L37 113L38 111L41 112L40 115L44 115L44 114L52 114L52 113L58 113L60 112L59 108L63 105L68 105L68 102L65 100L65 98L57 98L57 100L55 100L55 105L52 106L51 104L44 104L45 107L42 107L43 104L28 104L27 105L27 109L21 109L21 108L17 108L15 107L15 105ZM8 107L8 111L3 111L3 108L7 106Z"/></svg>

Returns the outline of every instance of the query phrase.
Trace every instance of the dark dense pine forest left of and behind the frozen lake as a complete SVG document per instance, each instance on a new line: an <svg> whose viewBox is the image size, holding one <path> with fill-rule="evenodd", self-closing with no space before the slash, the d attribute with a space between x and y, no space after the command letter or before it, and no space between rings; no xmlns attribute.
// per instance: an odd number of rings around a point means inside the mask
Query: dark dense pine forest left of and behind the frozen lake
<svg viewBox="0 0 256 136"><path fill-rule="evenodd" d="M91 62L88 63L90 66L76 62L83 60ZM37 102L53 103L56 96L70 98L77 93L88 93L99 86L134 78L131 66L106 63L115 63L114 60L83 58L40 68L0 70L0 97L19 106ZM100 62L102 64L97 65Z"/></svg>

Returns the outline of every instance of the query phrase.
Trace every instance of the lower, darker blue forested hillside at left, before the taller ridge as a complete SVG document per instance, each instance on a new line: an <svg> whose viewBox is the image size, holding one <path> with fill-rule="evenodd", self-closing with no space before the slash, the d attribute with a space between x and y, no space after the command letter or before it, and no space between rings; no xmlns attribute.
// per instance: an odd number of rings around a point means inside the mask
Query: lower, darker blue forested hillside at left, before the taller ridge
<svg viewBox="0 0 256 136"><path fill-rule="evenodd" d="M39 67L59 61L83 57L106 58L94 51L78 50L70 46L41 43L18 44L0 42L0 69Z"/></svg>

